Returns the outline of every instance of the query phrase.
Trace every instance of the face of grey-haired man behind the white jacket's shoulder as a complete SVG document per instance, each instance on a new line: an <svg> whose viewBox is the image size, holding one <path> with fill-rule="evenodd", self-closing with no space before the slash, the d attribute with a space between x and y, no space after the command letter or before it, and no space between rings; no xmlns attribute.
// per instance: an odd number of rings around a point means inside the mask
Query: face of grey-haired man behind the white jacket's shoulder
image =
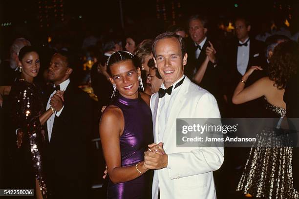
<svg viewBox="0 0 299 199"><path fill-rule="evenodd" d="M205 39L207 30L207 28L204 28L201 20L191 20L189 22L189 34L191 39L197 44Z"/></svg>

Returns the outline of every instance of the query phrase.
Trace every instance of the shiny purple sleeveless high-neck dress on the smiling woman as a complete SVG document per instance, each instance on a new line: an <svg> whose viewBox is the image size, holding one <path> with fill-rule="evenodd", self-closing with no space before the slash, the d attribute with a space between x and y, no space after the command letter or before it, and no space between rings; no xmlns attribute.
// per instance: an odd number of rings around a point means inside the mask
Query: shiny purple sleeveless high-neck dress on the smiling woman
<svg viewBox="0 0 299 199"><path fill-rule="evenodd" d="M124 132L120 137L122 166L136 165L144 160L148 144L153 143L152 117L144 100L127 99L119 94L111 105L118 106L125 119ZM136 171L137 172L137 171ZM145 199L150 196L150 171L137 179L107 186L107 199Z"/></svg>

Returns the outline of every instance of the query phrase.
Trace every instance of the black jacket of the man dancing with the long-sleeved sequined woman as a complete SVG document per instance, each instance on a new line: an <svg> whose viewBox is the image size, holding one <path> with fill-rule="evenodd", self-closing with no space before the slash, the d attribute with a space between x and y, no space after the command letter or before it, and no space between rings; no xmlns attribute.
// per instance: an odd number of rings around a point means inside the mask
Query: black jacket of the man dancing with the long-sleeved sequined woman
<svg viewBox="0 0 299 199"><path fill-rule="evenodd" d="M51 93L51 89L46 92L45 104ZM47 146L46 169L54 199L88 198L91 115L88 94L70 82L64 92L64 109L55 116Z"/></svg>

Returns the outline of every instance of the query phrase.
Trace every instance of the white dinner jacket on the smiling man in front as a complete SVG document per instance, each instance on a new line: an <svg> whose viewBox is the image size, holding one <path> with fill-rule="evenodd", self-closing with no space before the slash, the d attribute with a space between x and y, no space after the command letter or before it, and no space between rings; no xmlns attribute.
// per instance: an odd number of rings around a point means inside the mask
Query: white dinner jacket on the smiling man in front
<svg viewBox="0 0 299 199"><path fill-rule="evenodd" d="M215 199L213 171L223 163L223 148L176 147L177 118L220 118L212 94L192 83L187 77L180 86L170 110L165 131L159 140L159 96L150 99L154 142L163 142L168 154L167 168L154 171L152 199Z"/></svg>

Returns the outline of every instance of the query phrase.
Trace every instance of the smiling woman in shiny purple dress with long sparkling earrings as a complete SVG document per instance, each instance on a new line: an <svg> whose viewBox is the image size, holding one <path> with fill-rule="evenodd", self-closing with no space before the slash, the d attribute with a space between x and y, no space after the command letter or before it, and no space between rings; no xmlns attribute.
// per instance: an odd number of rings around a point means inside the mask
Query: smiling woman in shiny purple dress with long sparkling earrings
<svg viewBox="0 0 299 199"><path fill-rule="evenodd" d="M100 137L107 164L108 199L144 199L150 196L151 181L145 174L144 152L153 142L149 97L138 92L140 68L133 55L117 51L107 61L116 97L103 112ZM149 172L147 172L149 173Z"/></svg>

